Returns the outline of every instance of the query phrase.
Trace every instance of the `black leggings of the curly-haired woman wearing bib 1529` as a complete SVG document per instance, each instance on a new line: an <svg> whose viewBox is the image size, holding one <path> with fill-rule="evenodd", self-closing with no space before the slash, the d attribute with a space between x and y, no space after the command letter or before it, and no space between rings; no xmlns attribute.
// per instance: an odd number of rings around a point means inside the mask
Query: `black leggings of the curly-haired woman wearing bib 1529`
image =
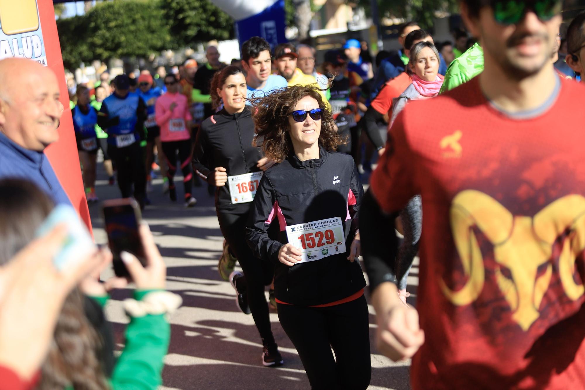
<svg viewBox="0 0 585 390"><path fill-rule="evenodd" d="M313 390L366 389L370 333L366 297L329 307L277 303L278 319L301 357ZM335 358L331 348L335 351Z"/></svg>

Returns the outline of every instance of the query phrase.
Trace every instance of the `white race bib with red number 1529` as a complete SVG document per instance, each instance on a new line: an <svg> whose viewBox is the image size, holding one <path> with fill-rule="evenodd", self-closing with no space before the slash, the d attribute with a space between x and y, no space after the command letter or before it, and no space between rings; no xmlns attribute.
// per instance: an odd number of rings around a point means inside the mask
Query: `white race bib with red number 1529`
<svg viewBox="0 0 585 390"><path fill-rule="evenodd" d="M301 249L301 263L345 252L341 218L287 226L288 243Z"/></svg>

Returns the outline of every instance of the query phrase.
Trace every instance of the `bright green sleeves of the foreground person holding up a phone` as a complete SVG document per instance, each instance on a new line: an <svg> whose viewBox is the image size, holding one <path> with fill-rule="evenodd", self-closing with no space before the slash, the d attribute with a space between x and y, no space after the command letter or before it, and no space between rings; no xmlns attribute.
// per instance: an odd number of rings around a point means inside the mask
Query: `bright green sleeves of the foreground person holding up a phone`
<svg viewBox="0 0 585 390"><path fill-rule="evenodd" d="M153 290L134 292L141 300ZM104 307L107 296L92 297ZM132 317L126 327L126 346L109 378L112 390L155 390L162 384L163 359L167 354L171 327L164 314ZM73 390L68 388L67 390Z"/></svg>

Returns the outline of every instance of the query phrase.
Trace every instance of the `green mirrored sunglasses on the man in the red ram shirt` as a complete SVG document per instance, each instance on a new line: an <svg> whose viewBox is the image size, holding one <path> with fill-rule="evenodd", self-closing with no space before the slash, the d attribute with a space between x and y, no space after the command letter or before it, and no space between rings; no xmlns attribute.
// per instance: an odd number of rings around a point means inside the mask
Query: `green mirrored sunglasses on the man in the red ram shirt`
<svg viewBox="0 0 585 390"><path fill-rule="evenodd" d="M543 21L552 19L563 9L561 0L491 0L489 3L494 10L495 21L501 25L515 25L529 9Z"/></svg>

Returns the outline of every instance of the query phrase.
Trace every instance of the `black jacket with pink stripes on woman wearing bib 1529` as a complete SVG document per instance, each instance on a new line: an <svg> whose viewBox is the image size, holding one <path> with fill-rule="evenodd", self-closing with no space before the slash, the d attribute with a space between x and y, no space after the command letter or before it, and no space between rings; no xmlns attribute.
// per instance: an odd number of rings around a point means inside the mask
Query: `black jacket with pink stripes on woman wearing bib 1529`
<svg viewBox="0 0 585 390"><path fill-rule="evenodd" d="M347 260L362 196L352 156L323 148L319 159L301 161L292 155L264 173L250 210L246 238L254 255L276 265L278 300L292 305L324 305L366 286L359 261ZM287 225L332 217L343 221L345 253L294 266L278 261L278 251L288 242Z"/></svg>

